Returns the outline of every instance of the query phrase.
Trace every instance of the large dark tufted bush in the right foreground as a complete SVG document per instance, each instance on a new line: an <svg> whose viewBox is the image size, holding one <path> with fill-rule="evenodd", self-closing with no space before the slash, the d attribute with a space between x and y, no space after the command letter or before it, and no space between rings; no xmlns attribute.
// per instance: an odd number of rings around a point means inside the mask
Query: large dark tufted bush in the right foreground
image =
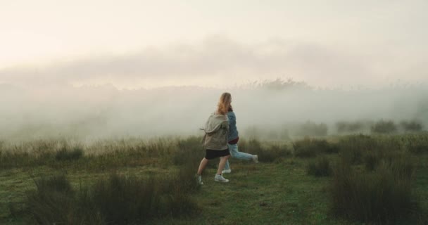
<svg viewBox="0 0 428 225"><path fill-rule="evenodd" d="M334 167L332 207L336 214L363 222L391 223L417 210L410 160L382 161L374 172L358 172L346 161Z"/></svg>

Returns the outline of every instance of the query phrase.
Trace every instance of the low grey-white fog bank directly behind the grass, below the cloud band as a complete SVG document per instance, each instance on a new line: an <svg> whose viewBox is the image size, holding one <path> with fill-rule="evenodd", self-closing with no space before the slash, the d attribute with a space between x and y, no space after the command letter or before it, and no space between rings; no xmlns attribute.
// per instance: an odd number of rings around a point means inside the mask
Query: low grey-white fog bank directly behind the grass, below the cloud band
<svg viewBox="0 0 428 225"><path fill-rule="evenodd" d="M329 134L335 133L338 121L420 120L428 124L428 88L424 84L353 90L316 89L291 79L228 89L0 84L0 139L198 135L224 91L232 94L243 137L251 127L291 129L308 120L326 123Z"/></svg>

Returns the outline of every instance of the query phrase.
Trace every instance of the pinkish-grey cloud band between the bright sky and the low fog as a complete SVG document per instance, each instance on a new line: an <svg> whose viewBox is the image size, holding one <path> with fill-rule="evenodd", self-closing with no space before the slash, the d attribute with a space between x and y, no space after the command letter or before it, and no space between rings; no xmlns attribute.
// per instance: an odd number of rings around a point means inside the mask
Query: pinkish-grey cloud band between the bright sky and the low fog
<svg viewBox="0 0 428 225"><path fill-rule="evenodd" d="M426 46L391 48L320 44L269 39L245 44L223 35L135 49L99 53L50 63L0 67L0 83L16 86L114 84L120 89L160 86L238 86L264 79L294 77L310 86L350 89L428 82Z"/></svg>

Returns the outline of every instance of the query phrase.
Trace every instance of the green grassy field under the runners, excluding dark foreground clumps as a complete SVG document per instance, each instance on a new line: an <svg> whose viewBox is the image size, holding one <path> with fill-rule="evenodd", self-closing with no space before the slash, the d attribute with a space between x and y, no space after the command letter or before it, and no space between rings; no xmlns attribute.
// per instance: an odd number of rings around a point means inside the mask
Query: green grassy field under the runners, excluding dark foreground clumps
<svg viewBox="0 0 428 225"><path fill-rule="evenodd" d="M294 143L277 141L275 144L244 140L240 142L240 150L258 153L260 163L230 160L232 173L225 174L230 181L227 184L219 184L213 179L218 160L213 160L203 174L204 185L188 193L197 205L194 212L155 216L144 223L425 224L427 218L424 214L428 212L428 149L424 146L426 140L427 134L373 138L344 136L329 137L327 141L303 139ZM44 149L37 153L35 150L27 152L25 146L44 146ZM353 153L352 157L349 157L348 152L353 151L353 147L349 146L358 146L361 153ZM323 157L329 162L327 167L332 167L332 171L341 160L354 159L353 162L347 162L355 171L371 174L370 171L366 172L367 165L372 162L365 157L370 155L366 148L372 148L368 149L370 153L377 153L376 150L382 149L379 151L382 155L379 159L382 160L388 158L387 154L384 155L384 150L393 151L391 146L394 151L410 157L411 165L415 168L409 175L414 196L412 200L417 202L417 207L412 208L413 211L409 209L412 212L394 220L361 221L338 214L332 205L334 172L333 175L327 176L314 176L308 172L309 165ZM75 156L79 155L75 153L79 151L76 150L77 147L82 150L79 157ZM148 142L138 139L101 141L90 146L64 144L64 141L39 141L18 145L4 143L0 149L0 224L37 224L32 210L28 210L28 196L37 190L35 181L40 177L65 174L75 190L82 189L82 186L91 187L100 179L108 179L111 174L138 178L175 177L180 171L185 171L189 179L193 179L197 163L203 155L199 137ZM63 155L58 156L61 154ZM194 169L193 173L191 169ZM188 180L182 181L185 183ZM180 183L180 179L175 182ZM57 224L61 224L61 221ZM129 221L122 224L139 223Z"/></svg>

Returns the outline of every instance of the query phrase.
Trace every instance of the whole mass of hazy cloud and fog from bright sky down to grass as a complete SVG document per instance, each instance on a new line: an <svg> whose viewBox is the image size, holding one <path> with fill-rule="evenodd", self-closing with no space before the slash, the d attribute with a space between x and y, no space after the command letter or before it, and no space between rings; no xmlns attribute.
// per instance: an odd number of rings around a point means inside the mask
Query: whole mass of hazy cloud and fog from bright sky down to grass
<svg viewBox="0 0 428 225"><path fill-rule="evenodd" d="M242 137L298 136L306 122L328 134L341 121L428 124L421 51L214 35L2 68L0 140L198 135L224 91Z"/></svg>

